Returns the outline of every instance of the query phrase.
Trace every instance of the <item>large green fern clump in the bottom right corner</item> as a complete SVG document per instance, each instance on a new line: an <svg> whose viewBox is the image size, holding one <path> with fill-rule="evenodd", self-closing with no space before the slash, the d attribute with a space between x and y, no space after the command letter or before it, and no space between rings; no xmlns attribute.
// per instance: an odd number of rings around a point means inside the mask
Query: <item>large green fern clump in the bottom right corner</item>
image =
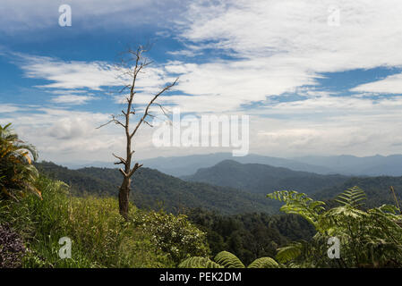
<svg viewBox="0 0 402 286"><path fill-rule="evenodd" d="M299 214L317 233L312 241L298 241L278 249L277 260L289 267L401 267L402 215L396 206L364 209L364 191L346 189L336 200L340 206L325 208L304 193L276 191L269 198L285 202L281 210ZM328 240L340 240L340 257L329 259Z"/></svg>

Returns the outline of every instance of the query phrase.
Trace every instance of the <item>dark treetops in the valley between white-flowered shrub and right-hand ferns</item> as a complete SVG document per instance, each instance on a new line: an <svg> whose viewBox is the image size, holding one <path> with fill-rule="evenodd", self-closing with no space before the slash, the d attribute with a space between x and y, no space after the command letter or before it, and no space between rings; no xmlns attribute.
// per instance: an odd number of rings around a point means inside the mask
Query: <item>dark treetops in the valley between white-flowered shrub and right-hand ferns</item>
<svg viewBox="0 0 402 286"><path fill-rule="evenodd" d="M277 248L292 240L311 240L312 225L292 214L222 215L201 209L188 212L188 218L207 233L211 255L227 250L246 265L259 257L273 257Z"/></svg>

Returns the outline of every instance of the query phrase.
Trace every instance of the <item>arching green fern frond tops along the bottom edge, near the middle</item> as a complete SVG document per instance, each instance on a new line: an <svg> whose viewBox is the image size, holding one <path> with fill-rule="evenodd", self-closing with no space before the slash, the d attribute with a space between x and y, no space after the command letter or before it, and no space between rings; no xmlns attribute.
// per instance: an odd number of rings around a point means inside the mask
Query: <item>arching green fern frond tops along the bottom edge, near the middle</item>
<svg viewBox="0 0 402 286"><path fill-rule="evenodd" d="M278 268L278 263L270 257L261 257L247 268ZM185 259L179 268L245 268L238 257L228 251L221 251L213 261L208 257L190 257Z"/></svg>

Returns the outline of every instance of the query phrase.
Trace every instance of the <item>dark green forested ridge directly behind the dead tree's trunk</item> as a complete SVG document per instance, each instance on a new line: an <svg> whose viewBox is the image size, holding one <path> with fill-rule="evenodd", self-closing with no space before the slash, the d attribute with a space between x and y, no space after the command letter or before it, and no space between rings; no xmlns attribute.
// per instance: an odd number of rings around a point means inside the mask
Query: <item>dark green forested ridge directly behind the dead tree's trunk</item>
<svg viewBox="0 0 402 286"><path fill-rule="evenodd" d="M117 169L91 167L70 170L47 162L36 166L49 177L71 185L76 194L117 196L122 181ZM163 206L167 211L176 212L183 208L203 207L221 214L274 213L278 210L278 203L266 198L265 194L183 181L149 168L139 169L133 179L131 198L136 206L142 208Z"/></svg>

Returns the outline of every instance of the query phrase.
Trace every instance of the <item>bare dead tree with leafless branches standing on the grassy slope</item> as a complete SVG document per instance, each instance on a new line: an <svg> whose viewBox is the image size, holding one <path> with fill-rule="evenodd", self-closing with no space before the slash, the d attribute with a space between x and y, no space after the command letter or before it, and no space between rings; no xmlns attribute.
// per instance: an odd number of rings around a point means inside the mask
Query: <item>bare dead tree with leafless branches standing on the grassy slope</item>
<svg viewBox="0 0 402 286"><path fill-rule="evenodd" d="M129 209L129 196L130 196L130 189L131 189L131 183L132 183L132 177L135 171L137 171L139 168L141 168L142 164L135 163L132 167L132 159L133 159L133 137L137 133L137 130L139 130L141 124L146 123L152 127L150 122L147 122L147 117L153 117L152 114L150 114L150 106L151 105L158 105L155 101L157 98L162 95L165 91L168 89L172 88L175 86L175 83L177 82L178 78L171 84L168 84L165 88L161 88L158 93L156 93L148 105L146 105L145 110L143 114L141 114L140 119L138 122L135 124L135 127L133 130L130 127L130 119L132 115L135 115L135 108L133 107L133 100L136 95L136 81L138 80L138 76L143 70L150 65L151 62L148 62L145 57L143 57L143 53L145 53L147 50L143 46L139 46L137 50L132 50L129 49L127 51L129 55L129 59L123 60L122 63L119 64L119 67L124 69L124 75L128 75L132 77L131 83L124 86L120 90L120 93L124 92L126 89L130 89L130 94L125 98L126 99L126 108L125 110L122 110L122 114L119 114L120 117L123 117L123 122L117 119L118 116L112 115L112 119L107 122L106 124L103 124L100 127L103 127L109 123L115 123L117 125L120 125L121 127L124 128L124 133L125 133L125 157L123 156L116 156L115 154L112 154L115 156L115 158L118 160L115 164L123 164L124 167L120 168L119 171L123 175L123 182L122 185L119 189L119 212L120 214L124 217L124 219L128 219L128 209ZM133 66L132 66L133 65ZM159 105L161 107L161 105ZM162 107L161 107L162 108ZM163 109L162 109L163 110Z"/></svg>

